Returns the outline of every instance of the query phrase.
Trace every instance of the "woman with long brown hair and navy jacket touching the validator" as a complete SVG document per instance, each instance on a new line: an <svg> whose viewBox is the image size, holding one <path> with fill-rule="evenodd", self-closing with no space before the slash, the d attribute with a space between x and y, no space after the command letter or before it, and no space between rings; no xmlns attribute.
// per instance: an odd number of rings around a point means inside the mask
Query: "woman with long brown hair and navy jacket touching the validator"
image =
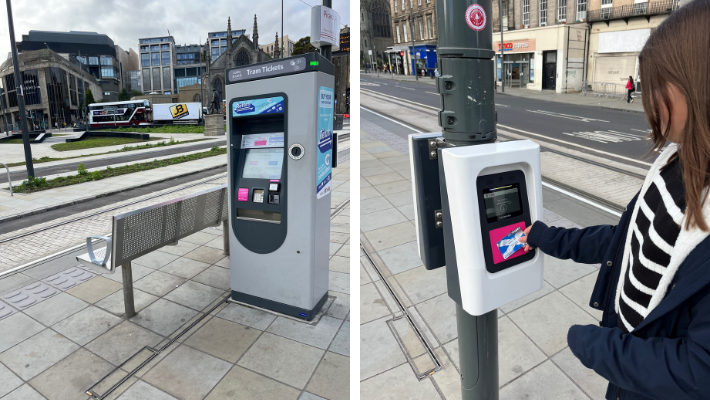
<svg viewBox="0 0 710 400"><path fill-rule="evenodd" d="M710 0L694 0L639 55L656 161L618 225L525 230L525 250L601 264L572 353L609 381L607 399L710 398ZM670 142L670 144L668 144ZM668 145L667 145L668 144ZM666 146L667 145L667 146Z"/></svg>

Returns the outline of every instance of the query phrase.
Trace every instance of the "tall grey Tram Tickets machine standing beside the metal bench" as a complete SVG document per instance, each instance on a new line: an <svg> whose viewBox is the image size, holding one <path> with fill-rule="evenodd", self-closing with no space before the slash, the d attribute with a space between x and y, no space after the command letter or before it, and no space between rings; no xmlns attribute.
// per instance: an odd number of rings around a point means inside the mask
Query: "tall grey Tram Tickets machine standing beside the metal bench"
<svg viewBox="0 0 710 400"><path fill-rule="evenodd" d="M328 295L334 67L226 73L232 300L311 320Z"/></svg>

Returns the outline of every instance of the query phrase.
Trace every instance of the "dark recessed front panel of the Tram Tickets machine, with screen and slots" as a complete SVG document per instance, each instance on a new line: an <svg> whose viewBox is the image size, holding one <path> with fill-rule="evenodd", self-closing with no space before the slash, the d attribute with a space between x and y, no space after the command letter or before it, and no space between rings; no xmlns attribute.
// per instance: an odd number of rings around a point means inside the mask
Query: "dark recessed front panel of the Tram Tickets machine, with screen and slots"
<svg viewBox="0 0 710 400"><path fill-rule="evenodd" d="M286 106L285 95L230 103L231 187L237 192L230 217L239 242L259 254L286 238Z"/></svg>

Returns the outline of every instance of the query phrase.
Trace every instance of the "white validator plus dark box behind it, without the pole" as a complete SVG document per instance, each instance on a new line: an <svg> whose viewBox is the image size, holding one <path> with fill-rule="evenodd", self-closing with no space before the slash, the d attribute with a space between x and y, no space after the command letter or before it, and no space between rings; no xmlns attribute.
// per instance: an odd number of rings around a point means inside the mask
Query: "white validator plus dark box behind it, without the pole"
<svg viewBox="0 0 710 400"><path fill-rule="evenodd" d="M419 255L447 268L449 296L483 315L542 288L543 254L517 240L542 218L540 146L529 140L445 147L410 136Z"/></svg>

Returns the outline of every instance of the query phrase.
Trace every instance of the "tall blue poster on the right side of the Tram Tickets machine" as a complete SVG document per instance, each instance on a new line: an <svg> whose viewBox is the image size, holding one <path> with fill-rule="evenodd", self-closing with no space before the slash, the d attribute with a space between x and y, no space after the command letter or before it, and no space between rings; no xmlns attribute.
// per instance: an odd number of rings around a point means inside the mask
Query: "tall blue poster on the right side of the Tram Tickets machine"
<svg viewBox="0 0 710 400"><path fill-rule="evenodd" d="M316 162L316 198L330 193L333 168L333 89L318 89L318 160Z"/></svg>

